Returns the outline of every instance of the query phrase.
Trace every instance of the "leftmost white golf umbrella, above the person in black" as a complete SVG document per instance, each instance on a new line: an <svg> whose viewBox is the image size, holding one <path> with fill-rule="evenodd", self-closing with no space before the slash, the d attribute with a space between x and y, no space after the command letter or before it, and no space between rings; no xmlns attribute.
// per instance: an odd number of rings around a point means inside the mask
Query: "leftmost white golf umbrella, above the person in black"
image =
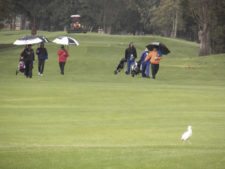
<svg viewBox="0 0 225 169"><path fill-rule="evenodd" d="M18 40L16 40L14 45L32 45L43 42L43 40L37 36L24 36Z"/></svg>

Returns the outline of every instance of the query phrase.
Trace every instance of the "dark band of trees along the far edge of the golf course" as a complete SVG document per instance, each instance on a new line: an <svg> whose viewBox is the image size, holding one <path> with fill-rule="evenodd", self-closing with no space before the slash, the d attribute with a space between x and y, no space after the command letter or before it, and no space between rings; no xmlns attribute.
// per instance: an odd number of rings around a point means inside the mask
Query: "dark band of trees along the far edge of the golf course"
<svg viewBox="0 0 225 169"><path fill-rule="evenodd" d="M221 0L0 0L0 20L20 15L32 30L56 31L80 14L89 31L197 41L205 56L225 52L224 9Z"/></svg>

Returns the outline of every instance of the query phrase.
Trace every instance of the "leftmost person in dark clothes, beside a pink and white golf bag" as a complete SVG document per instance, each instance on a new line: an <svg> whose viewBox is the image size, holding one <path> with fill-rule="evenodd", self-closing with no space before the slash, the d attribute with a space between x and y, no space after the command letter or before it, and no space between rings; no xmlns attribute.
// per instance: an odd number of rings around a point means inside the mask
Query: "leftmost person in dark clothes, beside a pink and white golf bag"
<svg viewBox="0 0 225 169"><path fill-rule="evenodd" d="M27 45L25 47L25 49L21 53L21 57L23 57L25 63L24 75L27 78L32 78L32 69L34 62L34 50L32 49L32 45Z"/></svg>

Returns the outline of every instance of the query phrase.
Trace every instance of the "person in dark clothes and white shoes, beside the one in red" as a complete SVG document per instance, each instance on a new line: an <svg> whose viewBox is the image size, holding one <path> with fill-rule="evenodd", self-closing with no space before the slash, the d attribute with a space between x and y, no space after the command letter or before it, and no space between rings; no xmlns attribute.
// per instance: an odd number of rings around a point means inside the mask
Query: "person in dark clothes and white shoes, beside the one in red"
<svg viewBox="0 0 225 169"><path fill-rule="evenodd" d="M43 76L45 60L48 59L48 52L44 47L44 43L41 43L40 47L37 48L36 54L38 55L38 75Z"/></svg>

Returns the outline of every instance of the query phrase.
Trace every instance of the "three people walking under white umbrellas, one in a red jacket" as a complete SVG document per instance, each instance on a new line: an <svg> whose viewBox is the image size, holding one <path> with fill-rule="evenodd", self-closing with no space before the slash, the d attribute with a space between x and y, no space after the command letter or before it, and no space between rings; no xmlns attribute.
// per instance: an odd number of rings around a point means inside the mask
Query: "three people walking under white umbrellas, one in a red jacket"
<svg viewBox="0 0 225 169"><path fill-rule="evenodd" d="M32 45L26 45L20 55L20 62L24 63L24 70L22 71L27 78L32 78L33 65L35 61L35 53L38 56L38 75L43 76L45 61L48 59L48 51L44 46L44 43L40 43L40 46L36 49L36 52L32 49ZM64 45L57 51L60 73L64 75L65 64L69 57L68 51ZM19 67L19 66L18 66Z"/></svg>

